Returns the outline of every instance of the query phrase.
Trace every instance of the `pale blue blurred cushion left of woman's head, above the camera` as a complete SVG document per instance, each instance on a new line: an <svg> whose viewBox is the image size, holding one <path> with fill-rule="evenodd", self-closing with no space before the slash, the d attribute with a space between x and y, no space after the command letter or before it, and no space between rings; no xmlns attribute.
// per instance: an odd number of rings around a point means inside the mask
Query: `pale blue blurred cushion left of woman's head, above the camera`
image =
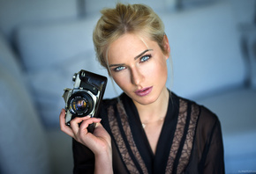
<svg viewBox="0 0 256 174"><path fill-rule="evenodd" d="M17 44L26 70L47 69L52 64L94 50L96 22L97 18L85 18L20 27Z"/></svg>

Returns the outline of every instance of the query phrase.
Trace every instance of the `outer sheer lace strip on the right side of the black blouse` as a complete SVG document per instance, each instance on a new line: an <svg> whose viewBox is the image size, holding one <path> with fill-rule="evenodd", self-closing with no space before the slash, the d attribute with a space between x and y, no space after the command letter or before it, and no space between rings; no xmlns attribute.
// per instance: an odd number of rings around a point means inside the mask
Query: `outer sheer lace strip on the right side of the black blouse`
<svg viewBox="0 0 256 174"><path fill-rule="evenodd" d="M177 173L182 173L189 162L189 158L192 152L192 144L194 140L195 128L197 126L197 120L199 117L200 108L199 105L192 104L191 119L184 141L184 147L179 158Z"/></svg>

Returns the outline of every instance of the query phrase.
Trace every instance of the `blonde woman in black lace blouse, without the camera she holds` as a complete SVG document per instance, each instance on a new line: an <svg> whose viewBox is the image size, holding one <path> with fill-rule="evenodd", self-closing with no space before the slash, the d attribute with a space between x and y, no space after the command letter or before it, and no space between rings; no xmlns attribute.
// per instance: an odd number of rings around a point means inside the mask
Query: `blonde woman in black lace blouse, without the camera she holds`
<svg viewBox="0 0 256 174"><path fill-rule="evenodd" d="M73 138L74 173L224 173L218 118L165 86L169 40L152 9L117 4L102 11L94 47L124 93L103 100L100 119L75 118L71 127L62 110L60 127Z"/></svg>

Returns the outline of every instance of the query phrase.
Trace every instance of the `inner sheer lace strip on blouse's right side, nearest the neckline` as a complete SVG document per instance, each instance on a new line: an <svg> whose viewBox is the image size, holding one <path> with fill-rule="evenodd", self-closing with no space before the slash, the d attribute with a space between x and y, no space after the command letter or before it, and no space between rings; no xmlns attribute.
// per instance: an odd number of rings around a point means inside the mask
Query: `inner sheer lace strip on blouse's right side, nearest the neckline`
<svg viewBox="0 0 256 174"><path fill-rule="evenodd" d="M187 117L187 102L184 100L179 101L179 113L177 118L177 127L175 130L171 149L169 151L168 163L166 166L165 173L170 174L173 170L173 163L177 156L177 150L179 149L180 141L184 134L185 120Z"/></svg>

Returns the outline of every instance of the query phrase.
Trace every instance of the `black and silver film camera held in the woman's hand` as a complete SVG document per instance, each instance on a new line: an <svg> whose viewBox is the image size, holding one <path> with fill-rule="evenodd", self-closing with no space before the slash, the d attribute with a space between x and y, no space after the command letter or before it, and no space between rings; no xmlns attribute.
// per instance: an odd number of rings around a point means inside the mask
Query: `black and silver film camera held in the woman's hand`
<svg viewBox="0 0 256 174"><path fill-rule="evenodd" d="M64 89L65 124L76 117L97 117L108 78L81 69L72 77L73 89ZM89 132L94 131L94 124L87 127Z"/></svg>

